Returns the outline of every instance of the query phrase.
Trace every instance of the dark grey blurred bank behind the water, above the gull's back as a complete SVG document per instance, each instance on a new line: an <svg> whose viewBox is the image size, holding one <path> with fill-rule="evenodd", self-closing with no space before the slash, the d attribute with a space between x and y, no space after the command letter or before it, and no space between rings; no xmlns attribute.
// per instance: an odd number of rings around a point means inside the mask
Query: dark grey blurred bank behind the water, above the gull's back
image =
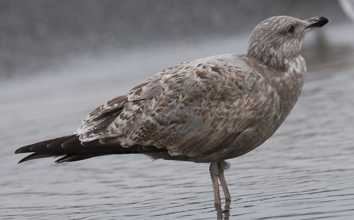
<svg viewBox="0 0 354 220"><path fill-rule="evenodd" d="M276 15L348 22L335 0L1 0L0 79L107 51L124 54L249 34Z"/></svg>

